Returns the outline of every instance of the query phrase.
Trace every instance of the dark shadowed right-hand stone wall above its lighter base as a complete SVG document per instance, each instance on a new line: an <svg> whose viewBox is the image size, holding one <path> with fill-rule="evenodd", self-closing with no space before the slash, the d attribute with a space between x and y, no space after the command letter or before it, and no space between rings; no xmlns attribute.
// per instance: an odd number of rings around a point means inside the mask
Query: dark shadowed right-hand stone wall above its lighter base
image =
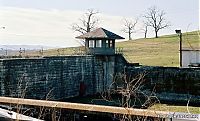
<svg viewBox="0 0 200 121"><path fill-rule="evenodd" d="M145 88L157 92L200 95L200 69L170 67L127 67L128 75L145 74Z"/></svg>

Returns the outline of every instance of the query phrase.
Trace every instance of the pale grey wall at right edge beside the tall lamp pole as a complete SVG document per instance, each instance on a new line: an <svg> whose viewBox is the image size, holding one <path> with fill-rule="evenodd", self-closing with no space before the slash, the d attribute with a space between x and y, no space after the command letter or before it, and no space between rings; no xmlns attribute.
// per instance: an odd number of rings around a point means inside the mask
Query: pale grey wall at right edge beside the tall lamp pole
<svg viewBox="0 0 200 121"><path fill-rule="evenodd" d="M189 67L191 63L200 64L200 50L183 50L182 66Z"/></svg>

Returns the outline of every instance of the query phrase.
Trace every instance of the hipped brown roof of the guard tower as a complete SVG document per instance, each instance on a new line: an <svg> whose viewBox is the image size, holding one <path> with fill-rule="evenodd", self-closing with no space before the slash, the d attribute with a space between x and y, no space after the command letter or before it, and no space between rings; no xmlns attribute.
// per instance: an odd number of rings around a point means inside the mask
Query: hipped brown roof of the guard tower
<svg viewBox="0 0 200 121"><path fill-rule="evenodd" d="M104 28L98 28L86 34L76 37L78 39L125 39Z"/></svg>

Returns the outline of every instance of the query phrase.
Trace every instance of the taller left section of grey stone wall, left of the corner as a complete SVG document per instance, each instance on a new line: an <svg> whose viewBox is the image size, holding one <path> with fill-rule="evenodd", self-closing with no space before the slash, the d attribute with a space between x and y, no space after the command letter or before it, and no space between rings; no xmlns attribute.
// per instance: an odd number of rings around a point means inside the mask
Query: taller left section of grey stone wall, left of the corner
<svg viewBox="0 0 200 121"><path fill-rule="evenodd" d="M114 56L1 59L0 95L62 99L101 92L114 74Z"/></svg>

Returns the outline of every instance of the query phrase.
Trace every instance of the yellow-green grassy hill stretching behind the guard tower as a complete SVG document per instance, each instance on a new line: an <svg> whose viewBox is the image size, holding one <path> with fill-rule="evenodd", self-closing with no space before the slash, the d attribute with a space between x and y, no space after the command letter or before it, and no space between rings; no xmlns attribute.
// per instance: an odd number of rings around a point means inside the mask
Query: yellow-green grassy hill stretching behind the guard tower
<svg viewBox="0 0 200 121"><path fill-rule="evenodd" d="M183 48L200 48L199 34L200 31L184 33ZM176 34L117 42L116 47L123 48L124 56L129 62L151 66L179 66L179 36ZM43 56L73 55L77 50L77 48L50 49L44 51ZM39 52L28 55L37 56Z"/></svg>

